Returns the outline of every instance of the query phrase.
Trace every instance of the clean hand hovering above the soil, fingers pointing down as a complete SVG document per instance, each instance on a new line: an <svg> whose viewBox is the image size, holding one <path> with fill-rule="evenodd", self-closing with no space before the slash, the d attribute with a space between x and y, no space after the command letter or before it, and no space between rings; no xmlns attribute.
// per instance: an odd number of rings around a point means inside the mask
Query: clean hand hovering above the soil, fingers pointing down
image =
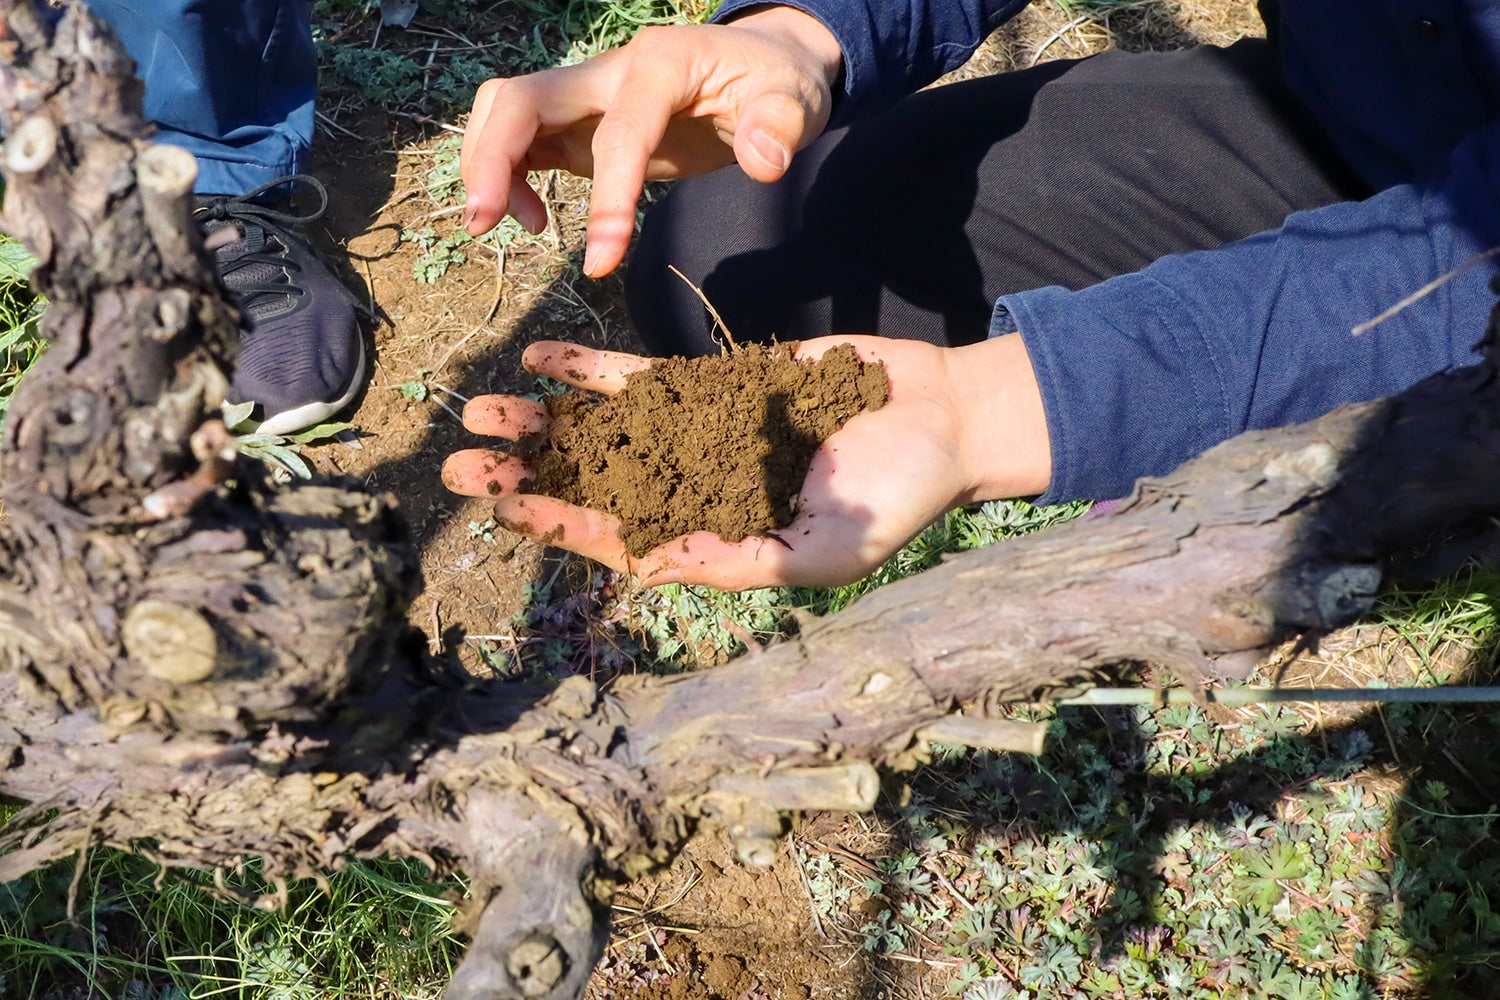
<svg viewBox="0 0 1500 1000"><path fill-rule="evenodd" d="M828 123L843 54L816 18L759 9L729 24L648 27L576 66L480 85L459 156L471 235L512 214L531 232L548 210L526 171L592 177L584 273L624 259L646 178L738 160L772 181Z"/></svg>

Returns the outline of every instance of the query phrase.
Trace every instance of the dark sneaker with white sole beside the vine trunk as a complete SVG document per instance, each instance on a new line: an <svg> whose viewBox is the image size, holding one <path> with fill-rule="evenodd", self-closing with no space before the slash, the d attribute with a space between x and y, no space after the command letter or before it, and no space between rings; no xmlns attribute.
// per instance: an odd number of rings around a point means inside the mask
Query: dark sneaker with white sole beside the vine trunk
<svg viewBox="0 0 1500 1000"><path fill-rule="evenodd" d="M267 192L286 184L312 187L318 210L297 214L266 202ZM356 298L294 231L327 207L322 183L291 174L244 195L200 196L194 208L206 234L238 232L214 250L219 277L249 319L226 402L254 400L260 433L322 423L364 382Z"/></svg>

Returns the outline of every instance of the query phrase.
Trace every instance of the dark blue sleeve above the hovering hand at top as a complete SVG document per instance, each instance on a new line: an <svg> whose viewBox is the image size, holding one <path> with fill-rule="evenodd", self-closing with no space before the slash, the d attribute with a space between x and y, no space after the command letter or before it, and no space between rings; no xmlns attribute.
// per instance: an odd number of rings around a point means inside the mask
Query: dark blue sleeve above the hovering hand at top
<svg viewBox="0 0 1500 1000"><path fill-rule="evenodd" d="M896 102L963 64L1029 0L778 0L822 21L844 55L844 93L832 124ZM765 0L724 0L728 21Z"/></svg>

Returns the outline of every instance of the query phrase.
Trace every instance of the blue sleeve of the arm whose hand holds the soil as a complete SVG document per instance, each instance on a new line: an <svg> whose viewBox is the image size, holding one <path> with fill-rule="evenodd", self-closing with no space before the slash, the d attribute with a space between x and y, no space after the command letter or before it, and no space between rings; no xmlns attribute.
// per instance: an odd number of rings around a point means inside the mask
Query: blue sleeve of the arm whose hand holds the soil
<svg viewBox="0 0 1500 1000"><path fill-rule="evenodd" d="M1476 267L1354 336L1500 243L1500 126L1443 178L1300 211L1275 231L1156 261L1092 288L1005 295L1041 384L1053 475L1041 502L1122 496L1244 430L1320 417L1470 364L1496 303ZM1006 315L1008 313L1008 315Z"/></svg>

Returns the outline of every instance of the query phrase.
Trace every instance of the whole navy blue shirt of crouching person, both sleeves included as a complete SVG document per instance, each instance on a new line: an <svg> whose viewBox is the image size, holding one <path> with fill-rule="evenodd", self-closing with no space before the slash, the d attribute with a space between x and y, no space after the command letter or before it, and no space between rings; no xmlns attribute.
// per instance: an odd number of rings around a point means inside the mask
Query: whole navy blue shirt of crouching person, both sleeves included
<svg viewBox="0 0 1500 1000"><path fill-rule="evenodd" d="M718 19L764 0L726 0ZM1018 0L792 0L843 45L848 120L960 64ZM1071 292L1005 295L1047 409L1044 502L1119 496L1244 430L1473 363L1500 244L1500 0L1262 4L1286 79L1374 196Z"/></svg>

